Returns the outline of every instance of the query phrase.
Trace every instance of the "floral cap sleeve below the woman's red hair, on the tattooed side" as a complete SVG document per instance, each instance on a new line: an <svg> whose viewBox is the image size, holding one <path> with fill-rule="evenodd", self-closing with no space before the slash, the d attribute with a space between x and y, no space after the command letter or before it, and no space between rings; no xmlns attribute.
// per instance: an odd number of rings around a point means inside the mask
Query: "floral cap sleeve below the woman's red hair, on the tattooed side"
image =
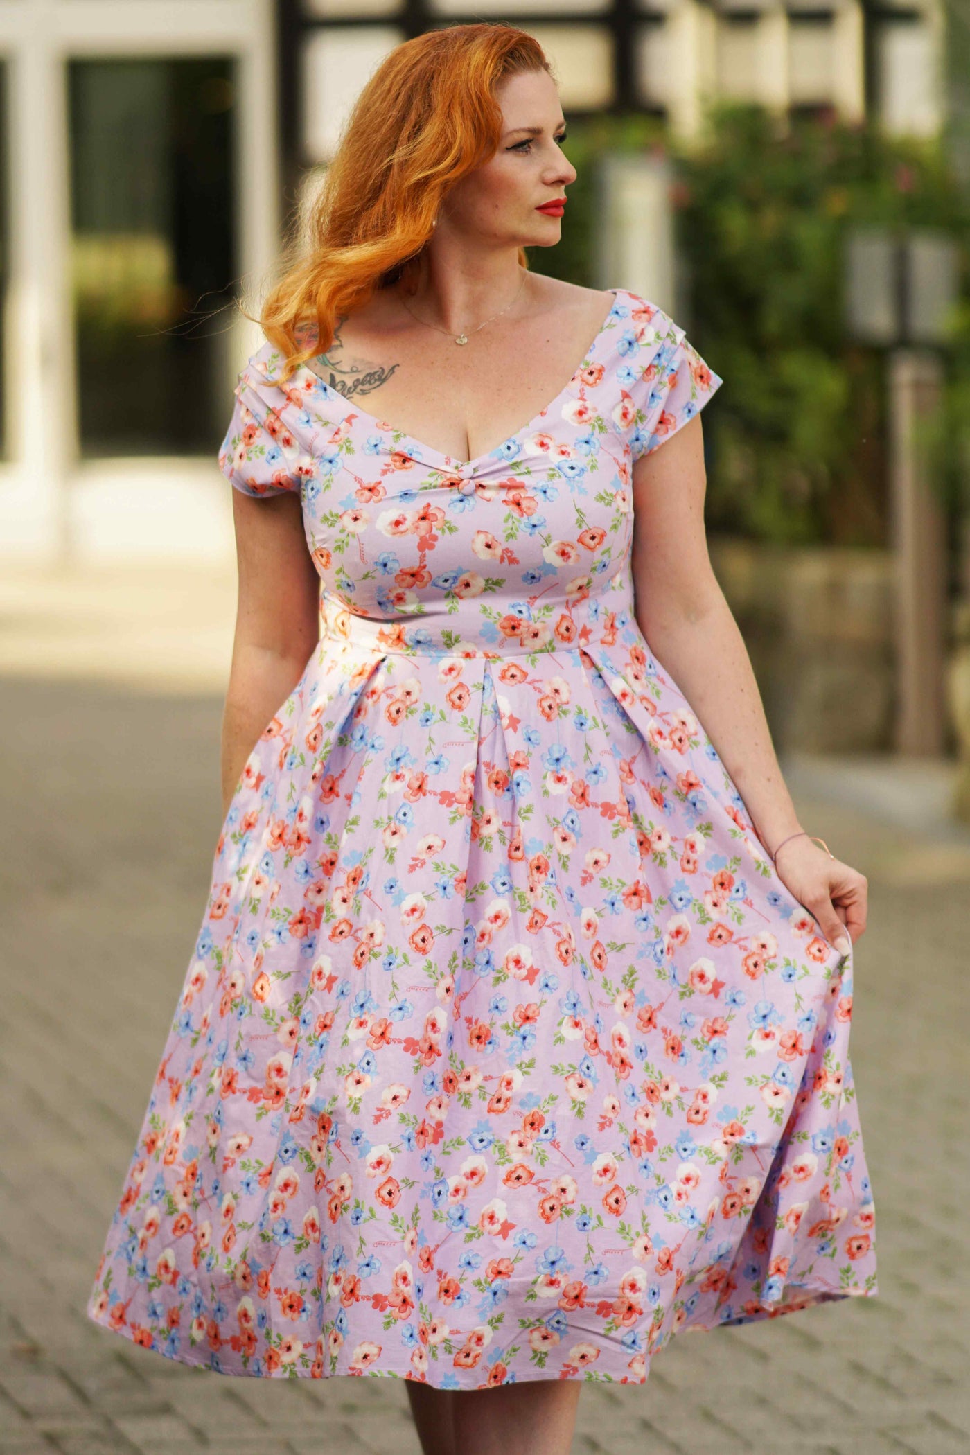
<svg viewBox="0 0 970 1455"><path fill-rule="evenodd" d="M249 361L233 391L236 407L220 447L220 470L244 495L300 495L300 450L285 419L289 402L282 388L266 381L262 352Z"/></svg>

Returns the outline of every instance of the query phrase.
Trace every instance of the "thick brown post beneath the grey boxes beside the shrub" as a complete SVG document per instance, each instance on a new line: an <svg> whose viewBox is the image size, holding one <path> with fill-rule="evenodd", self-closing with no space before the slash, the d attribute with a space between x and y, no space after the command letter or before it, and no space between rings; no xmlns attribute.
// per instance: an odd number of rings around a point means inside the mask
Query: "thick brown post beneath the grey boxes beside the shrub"
<svg viewBox="0 0 970 1455"><path fill-rule="evenodd" d="M890 477L896 553L896 749L928 757L944 749L944 633L947 538L916 435L939 402L942 361L931 349L893 349Z"/></svg>

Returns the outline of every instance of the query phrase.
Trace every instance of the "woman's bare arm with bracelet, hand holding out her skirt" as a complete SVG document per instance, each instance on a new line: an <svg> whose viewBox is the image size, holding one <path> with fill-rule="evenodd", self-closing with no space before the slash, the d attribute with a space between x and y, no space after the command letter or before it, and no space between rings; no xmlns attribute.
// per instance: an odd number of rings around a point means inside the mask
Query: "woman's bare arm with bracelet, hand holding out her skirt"
<svg viewBox="0 0 970 1455"><path fill-rule="evenodd" d="M633 470L633 582L640 630L670 672L774 853L801 824L781 776L750 659L717 583L704 530L701 416L641 455ZM778 856L778 876L836 949L865 928L862 874L810 838Z"/></svg>

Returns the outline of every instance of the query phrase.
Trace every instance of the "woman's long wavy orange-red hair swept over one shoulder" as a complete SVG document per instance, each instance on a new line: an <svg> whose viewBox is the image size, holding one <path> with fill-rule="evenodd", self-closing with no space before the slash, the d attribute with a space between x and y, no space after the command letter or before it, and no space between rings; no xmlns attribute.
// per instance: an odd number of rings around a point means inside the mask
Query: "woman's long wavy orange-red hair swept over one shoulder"
<svg viewBox="0 0 970 1455"><path fill-rule="evenodd" d="M398 279L409 287L442 198L499 148L497 87L538 70L553 74L538 41L496 22L428 31L381 61L260 310L282 383L330 348L340 314ZM528 268L524 247L519 262Z"/></svg>

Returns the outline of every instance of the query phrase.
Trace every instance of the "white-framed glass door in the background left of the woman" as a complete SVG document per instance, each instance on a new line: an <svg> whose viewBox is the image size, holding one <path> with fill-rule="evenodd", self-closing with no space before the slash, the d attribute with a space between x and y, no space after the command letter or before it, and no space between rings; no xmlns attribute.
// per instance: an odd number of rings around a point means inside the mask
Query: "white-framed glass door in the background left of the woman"
<svg viewBox="0 0 970 1455"><path fill-rule="evenodd" d="M231 300L279 240L272 0L23 0L0 54L0 550L225 557L257 339Z"/></svg>

